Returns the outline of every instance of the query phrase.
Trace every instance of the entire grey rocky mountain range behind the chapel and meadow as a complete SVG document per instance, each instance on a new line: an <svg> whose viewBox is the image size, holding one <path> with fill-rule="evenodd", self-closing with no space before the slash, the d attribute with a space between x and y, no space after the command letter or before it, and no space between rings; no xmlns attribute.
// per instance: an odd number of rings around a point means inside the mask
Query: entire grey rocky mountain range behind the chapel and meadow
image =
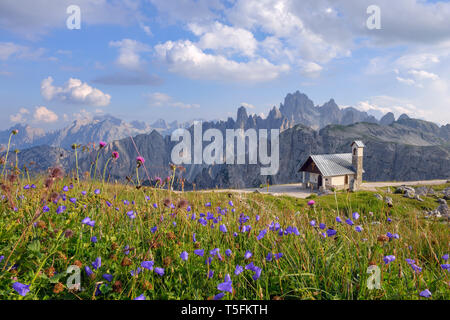
<svg viewBox="0 0 450 320"><path fill-rule="evenodd" d="M267 179L271 184L298 182L301 179L297 172L299 166L310 154L346 153L356 139L366 144L364 180L450 177L450 124L439 127L407 115L396 120L392 113L378 120L352 107L341 109L333 99L315 106L298 91L288 94L279 108L273 107L265 118L248 115L246 109L240 107L236 119L203 121L202 126L203 130L216 128L222 133L237 128L280 129L280 170L278 174L266 177L260 175L259 164L185 165L186 171L182 175L186 179L186 189L254 187L266 183ZM137 148L146 159L147 172L141 179L152 180L170 173L171 150L177 142L172 142L169 134L179 127L193 130L192 122L179 124L158 120L146 125L104 116L84 122L77 120L69 127L51 133L28 126L19 127L14 142L21 148L20 162L31 162L32 171L43 171L55 164L66 170L73 169L74 156L70 149L73 143L108 141L110 143L100 154L98 167L103 168L111 152L118 151L120 159L110 164L109 170L111 178L116 180L125 180L135 171ZM1 143L5 143L9 132L0 133ZM81 171L89 171L93 161L95 152L81 153Z"/></svg>

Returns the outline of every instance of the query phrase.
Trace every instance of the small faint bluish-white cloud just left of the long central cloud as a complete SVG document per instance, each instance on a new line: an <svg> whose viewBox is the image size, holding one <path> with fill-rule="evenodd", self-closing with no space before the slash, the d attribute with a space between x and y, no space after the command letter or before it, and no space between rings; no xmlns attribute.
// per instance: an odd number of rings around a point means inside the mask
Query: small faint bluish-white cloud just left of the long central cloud
<svg viewBox="0 0 450 320"><path fill-rule="evenodd" d="M140 53L151 50L146 44L132 39L111 41L109 45L111 47L119 48L119 57L117 58L116 63L121 67L132 70L139 70L144 64Z"/></svg>

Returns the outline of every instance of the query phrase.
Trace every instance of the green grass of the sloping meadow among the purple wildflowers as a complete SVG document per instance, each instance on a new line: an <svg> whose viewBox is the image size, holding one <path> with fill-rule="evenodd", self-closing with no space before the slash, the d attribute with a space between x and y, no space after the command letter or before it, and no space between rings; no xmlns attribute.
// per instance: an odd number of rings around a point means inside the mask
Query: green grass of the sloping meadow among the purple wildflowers
<svg viewBox="0 0 450 320"><path fill-rule="evenodd" d="M287 196L175 193L120 184L102 187L91 181L78 185L68 178L56 180L47 190L44 179L30 182L36 184L36 189L24 190L28 182L19 179L5 182L2 190L5 197L0 204L0 256L4 259L0 262L0 299L133 299L141 294L147 299L208 299L219 293L217 286L226 274L231 276L234 290L224 299L423 299L419 293L425 289L432 292L431 299L450 298L449 273L440 266L445 263L441 257L449 253L448 224L424 219L420 214L437 207L436 197L423 197L425 201L419 202L391 194L394 207L388 208L374 197L374 192L338 192L336 198L334 194L315 197L315 206L309 207L308 199ZM62 192L63 186L71 183L73 189ZM95 188L101 193L95 194ZM87 195L81 195L83 190ZM49 202L52 192L66 194L67 200ZM77 198L76 204L69 201L72 197ZM191 211L166 207L165 199L175 207L185 199ZM43 200L50 208L44 213ZM123 200L130 204L125 205ZM234 207L229 205L230 200ZM205 206L208 202L211 207ZM67 207L65 212L57 214L57 207L62 205ZM227 212L218 214L217 207ZM126 214L130 210L136 212L135 219ZM201 225L199 215L208 211L222 221L214 224L207 220L206 226ZM191 220L193 212L197 220ZM353 221L355 226L362 226L362 232L336 222L336 216L345 220L353 212L361 216ZM241 213L249 217L244 225L251 225L250 232L239 232ZM83 225L85 217L95 220L95 227ZM337 230L337 236L323 237L321 233L326 230L310 226L313 219ZM268 231L257 240L259 232L268 229L272 221L279 222L283 229L296 227L300 235L279 236L278 232ZM221 224L226 225L227 233L219 230ZM155 226L157 231L153 233ZM69 229L73 236L66 237ZM238 236L233 236L234 232ZM398 233L400 238L377 241L387 232ZM194 233L196 243L192 241ZM91 242L92 236L98 238L97 243ZM125 246L132 248L128 255ZM220 249L223 260L215 257L207 265L205 260L214 248ZM204 249L205 256L196 256L195 249ZM230 257L225 255L227 249L232 250ZM253 256L245 260L247 250ZM183 251L189 253L187 261L180 259ZM266 261L269 252L283 256ZM385 265L386 255L394 255L395 261ZM92 269L91 263L97 257L101 257L101 267L89 278L84 267ZM124 258L130 265L124 265ZM407 258L414 259L422 272L414 273ZM70 292L65 287L69 276L66 270L76 261L82 265L83 291ZM155 267L164 268L164 275L143 269L132 276L131 271L142 261L154 261ZM245 266L250 262L262 269L258 280L252 278L254 272L250 270L234 274L237 264ZM369 263L381 270L381 289L367 288ZM211 279L207 278L209 270L214 271ZM103 274L111 274L112 283L103 279ZM121 290L117 283L113 286L117 281L121 282ZM12 288L14 282L30 285L30 292L25 297L18 295ZM55 293L58 283L62 291ZM101 294L95 296L97 286Z"/></svg>

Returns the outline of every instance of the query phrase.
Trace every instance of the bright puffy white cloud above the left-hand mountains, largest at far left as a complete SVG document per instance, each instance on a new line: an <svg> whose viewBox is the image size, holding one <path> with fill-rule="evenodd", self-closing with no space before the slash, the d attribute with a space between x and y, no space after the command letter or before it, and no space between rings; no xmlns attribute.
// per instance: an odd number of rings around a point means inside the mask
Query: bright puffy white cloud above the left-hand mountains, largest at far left
<svg viewBox="0 0 450 320"><path fill-rule="evenodd" d="M111 96L89 86L79 79L70 78L62 87L53 86L53 78L42 80L41 94L46 100L58 100L66 103L107 106Z"/></svg>

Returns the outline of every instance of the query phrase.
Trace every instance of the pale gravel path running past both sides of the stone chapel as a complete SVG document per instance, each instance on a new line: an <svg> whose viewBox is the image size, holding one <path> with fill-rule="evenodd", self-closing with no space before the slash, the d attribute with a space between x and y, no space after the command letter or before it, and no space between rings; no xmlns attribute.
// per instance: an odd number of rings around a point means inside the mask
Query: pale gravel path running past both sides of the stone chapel
<svg viewBox="0 0 450 320"><path fill-rule="evenodd" d="M447 183L447 180L422 180L422 181L404 181L404 182L366 182L361 186L362 190L377 191L376 188L382 187L395 187L401 185L436 185ZM203 192L237 192L237 193L251 193L258 191L263 194L271 194L273 196L291 196L295 198L305 199L311 195L310 190L302 189L300 184L279 184L273 185L267 188L247 188L247 189L215 189L215 190L203 190Z"/></svg>

